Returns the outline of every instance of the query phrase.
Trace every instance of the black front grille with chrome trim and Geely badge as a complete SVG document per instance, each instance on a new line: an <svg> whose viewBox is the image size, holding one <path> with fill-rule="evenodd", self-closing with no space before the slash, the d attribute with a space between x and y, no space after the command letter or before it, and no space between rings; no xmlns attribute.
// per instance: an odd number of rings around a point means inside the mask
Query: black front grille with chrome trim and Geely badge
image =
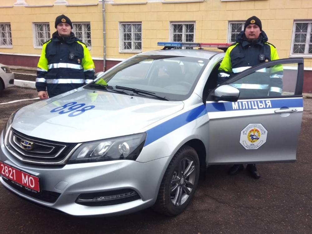
<svg viewBox="0 0 312 234"><path fill-rule="evenodd" d="M26 163L64 164L66 156L76 143L63 143L39 139L11 129L7 136L7 148L12 154Z"/></svg>

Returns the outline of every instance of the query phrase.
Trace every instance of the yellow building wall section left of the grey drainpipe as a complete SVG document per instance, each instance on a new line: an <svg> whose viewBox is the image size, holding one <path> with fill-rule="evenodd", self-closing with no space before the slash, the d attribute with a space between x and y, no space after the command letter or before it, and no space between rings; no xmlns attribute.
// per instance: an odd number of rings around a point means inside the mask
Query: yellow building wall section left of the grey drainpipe
<svg viewBox="0 0 312 234"><path fill-rule="evenodd" d="M29 0L27 1L27 3L30 2ZM34 48L32 23L49 22L50 35L52 36L53 32L56 31L54 25L55 18L60 14L65 14L72 22L90 22L92 35L90 54L93 57L103 57L103 20L101 4L78 7L55 5L53 7L0 8L0 22L11 23L13 46L12 49L0 48L0 52L41 54L41 49Z"/></svg>

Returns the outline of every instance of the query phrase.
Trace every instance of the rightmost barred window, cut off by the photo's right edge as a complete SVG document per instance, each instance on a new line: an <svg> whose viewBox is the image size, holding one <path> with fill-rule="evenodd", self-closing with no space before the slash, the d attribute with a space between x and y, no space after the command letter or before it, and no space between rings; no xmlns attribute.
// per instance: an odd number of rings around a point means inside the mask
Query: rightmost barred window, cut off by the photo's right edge
<svg viewBox="0 0 312 234"><path fill-rule="evenodd" d="M291 55L310 55L312 56L312 22L295 22ZM310 57L309 56L309 57Z"/></svg>

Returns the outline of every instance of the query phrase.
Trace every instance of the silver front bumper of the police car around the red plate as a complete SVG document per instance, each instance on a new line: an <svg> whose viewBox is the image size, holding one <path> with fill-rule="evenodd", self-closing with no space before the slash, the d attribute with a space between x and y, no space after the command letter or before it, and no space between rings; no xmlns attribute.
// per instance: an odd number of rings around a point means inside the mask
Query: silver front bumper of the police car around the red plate
<svg viewBox="0 0 312 234"><path fill-rule="evenodd" d="M3 133L2 133L3 134ZM63 167L26 164L12 156L0 137L0 160L40 178L41 191L59 194L56 201L43 201L17 190L0 178L4 187L39 205L75 216L119 215L135 212L154 204L163 174L171 157L146 163L116 160L98 163L68 164ZM86 206L76 203L80 194L132 189L139 199L114 205Z"/></svg>

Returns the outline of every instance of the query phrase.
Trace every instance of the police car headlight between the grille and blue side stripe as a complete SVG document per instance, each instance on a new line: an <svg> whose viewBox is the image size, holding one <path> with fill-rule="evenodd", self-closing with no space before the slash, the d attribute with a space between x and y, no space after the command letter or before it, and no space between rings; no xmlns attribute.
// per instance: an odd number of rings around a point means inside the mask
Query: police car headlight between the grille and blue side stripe
<svg viewBox="0 0 312 234"><path fill-rule="evenodd" d="M69 163L136 160L143 149L146 133L86 142L79 146Z"/></svg>

